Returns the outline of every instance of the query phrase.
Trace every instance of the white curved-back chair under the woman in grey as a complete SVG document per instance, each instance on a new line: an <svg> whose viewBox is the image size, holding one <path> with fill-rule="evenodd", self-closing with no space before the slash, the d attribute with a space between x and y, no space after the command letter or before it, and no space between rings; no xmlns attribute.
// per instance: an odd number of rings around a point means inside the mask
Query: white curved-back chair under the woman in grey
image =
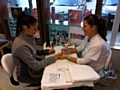
<svg viewBox="0 0 120 90"><path fill-rule="evenodd" d="M13 63L13 59L12 59L12 54L11 53L8 53L8 54L5 54L5 55L2 56L2 58L1 58L1 64L2 64L2 67L5 70L5 72L10 77L10 82L13 85L15 85L15 86L22 85L24 87L31 86L30 84L21 83L21 82L18 82L18 81L16 81L14 79L14 77L13 77L13 71L15 69L15 65ZM35 86L33 86L33 87L35 87ZM40 90L40 88L38 88L38 90Z"/></svg>

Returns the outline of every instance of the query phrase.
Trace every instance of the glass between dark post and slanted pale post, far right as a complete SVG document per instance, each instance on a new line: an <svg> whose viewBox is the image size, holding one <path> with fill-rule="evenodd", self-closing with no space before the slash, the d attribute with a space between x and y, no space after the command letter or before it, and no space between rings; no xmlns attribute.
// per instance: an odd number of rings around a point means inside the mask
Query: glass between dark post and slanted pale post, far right
<svg viewBox="0 0 120 90"><path fill-rule="evenodd" d="M114 24L114 19L118 7L118 0L104 0L102 6L102 17L108 19L108 33L107 33L107 40L110 42L112 34L112 28ZM114 31L113 31L114 33ZM118 41L118 39L117 39Z"/></svg>

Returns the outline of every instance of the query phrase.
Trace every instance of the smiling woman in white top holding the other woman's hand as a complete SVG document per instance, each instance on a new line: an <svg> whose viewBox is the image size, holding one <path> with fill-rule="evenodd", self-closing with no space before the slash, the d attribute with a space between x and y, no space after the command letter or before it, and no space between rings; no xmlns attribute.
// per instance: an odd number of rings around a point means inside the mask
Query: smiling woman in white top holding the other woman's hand
<svg viewBox="0 0 120 90"><path fill-rule="evenodd" d="M103 73L100 72L110 53L109 45L106 42L107 20L92 14L84 18L83 25L82 30L86 36L84 42L74 49L63 48L61 59L68 59L77 64L87 64L103 77ZM80 52L81 57L78 58L67 54Z"/></svg>

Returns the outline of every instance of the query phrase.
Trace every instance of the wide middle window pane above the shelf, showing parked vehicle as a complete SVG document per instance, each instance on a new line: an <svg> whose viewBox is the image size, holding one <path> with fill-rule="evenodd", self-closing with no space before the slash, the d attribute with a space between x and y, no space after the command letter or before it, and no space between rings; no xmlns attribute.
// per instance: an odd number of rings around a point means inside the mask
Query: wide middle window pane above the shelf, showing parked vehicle
<svg viewBox="0 0 120 90"><path fill-rule="evenodd" d="M86 15L86 8L95 13L96 0L50 0L50 14L51 8L55 7L55 17L59 19L59 12L64 12L64 20L68 20L68 10L80 9L82 10L82 18ZM51 15L50 15L51 18Z"/></svg>

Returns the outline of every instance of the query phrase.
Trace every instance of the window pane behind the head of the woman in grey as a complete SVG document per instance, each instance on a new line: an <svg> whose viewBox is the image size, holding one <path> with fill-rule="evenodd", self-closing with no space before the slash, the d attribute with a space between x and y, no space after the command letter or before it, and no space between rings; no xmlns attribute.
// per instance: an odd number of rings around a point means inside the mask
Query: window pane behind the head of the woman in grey
<svg viewBox="0 0 120 90"><path fill-rule="evenodd" d="M17 18L18 17L18 14L16 15L16 13L18 11L19 12L25 11L26 14L31 14L36 19L38 19L36 0L15 0L15 1L16 1L16 3L13 3L13 0L9 0L9 2L12 3L10 5L11 5L11 11L12 11L13 18ZM16 6L16 4L18 4L18 6ZM12 25L11 22L14 25ZM16 19L12 20L12 21L8 20L8 23L9 23L10 31L12 30L12 32L10 32L10 33L12 34L13 37L15 37L15 34L16 34L16 31L15 31L16 30ZM37 32L35 34L35 38L36 39L40 39L39 32Z"/></svg>

